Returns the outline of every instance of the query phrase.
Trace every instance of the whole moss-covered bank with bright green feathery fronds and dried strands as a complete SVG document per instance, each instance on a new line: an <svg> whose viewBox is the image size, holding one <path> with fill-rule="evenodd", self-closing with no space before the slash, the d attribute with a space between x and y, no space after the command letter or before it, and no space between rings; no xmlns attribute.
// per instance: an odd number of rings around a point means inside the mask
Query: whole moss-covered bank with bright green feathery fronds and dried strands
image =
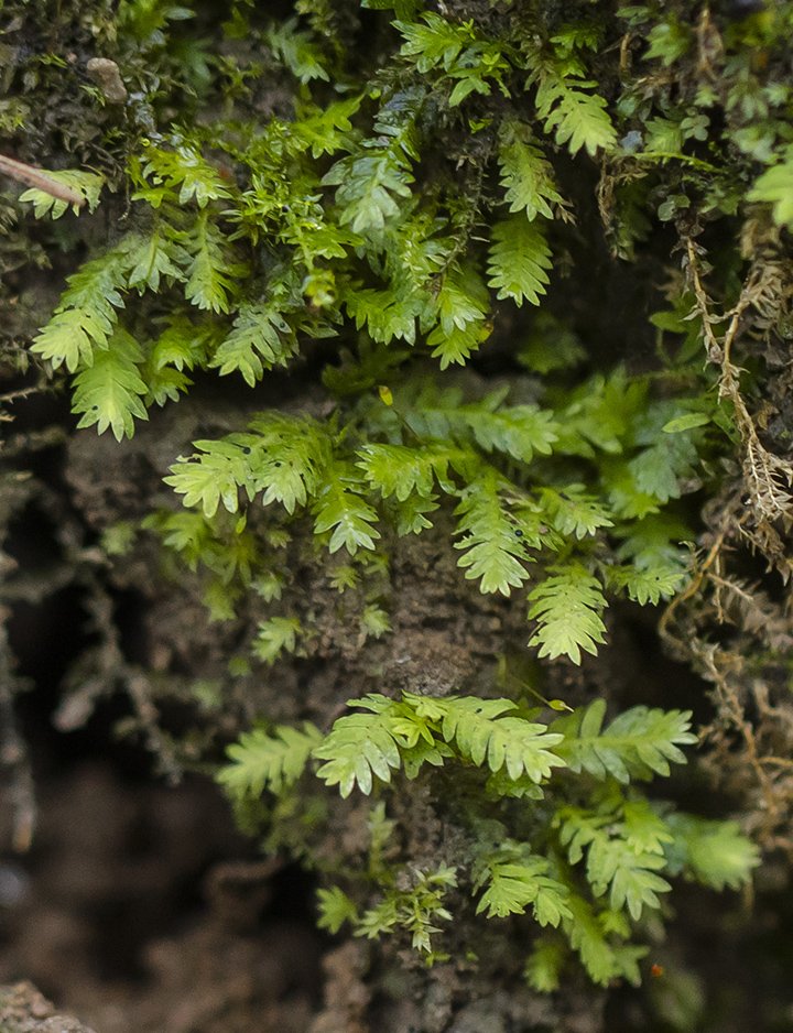
<svg viewBox="0 0 793 1033"><path fill-rule="evenodd" d="M89 521L111 581L178 583L148 692L193 730L110 667L173 771L242 731L240 818L324 872L332 931L450 964L512 944L478 913L528 912L535 989L576 978L571 949L639 982L667 877L745 884L738 825L637 785L693 743L624 645L670 599L714 755L757 778L747 827L786 844L789 8L3 14L6 149L87 202L3 202L9 305L29 259L66 276L35 325L21 294L8 361L118 441L76 437L83 504L95 448L140 458L144 502L122 470Z"/></svg>

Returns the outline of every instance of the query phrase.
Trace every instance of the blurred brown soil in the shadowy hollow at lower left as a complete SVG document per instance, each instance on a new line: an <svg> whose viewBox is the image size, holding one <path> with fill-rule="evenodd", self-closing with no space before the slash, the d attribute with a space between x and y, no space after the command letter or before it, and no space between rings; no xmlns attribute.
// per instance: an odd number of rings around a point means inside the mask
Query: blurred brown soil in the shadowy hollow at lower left
<svg viewBox="0 0 793 1033"><path fill-rule="evenodd" d="M24 974L99 1033L308 1030L322 945L278 899L280 866L235 850L209 783L76 768L45 787L30 856L0 867L0 981Z"/></svg>

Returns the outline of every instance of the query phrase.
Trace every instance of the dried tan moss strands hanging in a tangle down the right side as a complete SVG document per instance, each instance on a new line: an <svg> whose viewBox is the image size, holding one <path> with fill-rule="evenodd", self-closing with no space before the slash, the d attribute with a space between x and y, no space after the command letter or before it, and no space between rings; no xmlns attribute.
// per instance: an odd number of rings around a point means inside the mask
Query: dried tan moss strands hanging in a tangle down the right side
<svg viewBox="0 0 793 1033"><path fill-rule="evenodd" d="M783 263L776 262L768 272L758 260L736 305L717 314L703 283L704 249L691 238L685 239L684 248L684 270L696 300L692 316L699 316L707 358L719 370L719 396L729 400L735 412L743 477L742 487L734 486L723 496L725 508L710 524L715 541L699 559L685 590L667 607L660 630L673 649L685 655L714 686L716 715L703 730L703 739L711 747L705 763L743 796L746 771L751 771L754 789L747 796L747 813L753 817L747 820L753 825L753 834L767 848L793 849L793 840L789 844L784 833L793 808L793 761L785 757L785 746L793 736L793 717L790 735L783 733L780 721L785 708L771 714L765 700L763 709L763 693L768 694L769 688L750 666L754 654L751 650L747 652L748 643L758 639L765 650L786 650L789 645L780 645L776 639L784 635L790 643L790 623L782 613L779 620L772 619L764 595L724 569L727 543L738 533L758 547L785 580L793 573L790 550L783 541L784 533L793 526L793 464L774 455L761 442L758 425L740 393L741 370L732 359L741 334L751 331L752 326L768 330L775 318L787 312L790 281L783 275ZM719 624L736 626L734 648L708 642L703 635L714 619Z"/></svg>

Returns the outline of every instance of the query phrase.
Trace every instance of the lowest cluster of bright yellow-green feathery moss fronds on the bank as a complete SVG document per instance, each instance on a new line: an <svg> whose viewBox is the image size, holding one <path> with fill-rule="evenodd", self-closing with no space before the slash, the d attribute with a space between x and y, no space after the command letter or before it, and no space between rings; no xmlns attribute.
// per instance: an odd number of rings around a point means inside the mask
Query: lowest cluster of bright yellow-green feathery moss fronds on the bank
<svg viewBox="0 0 793 1033"><path fill-rule="evenodd" d="M489 797L472 797L464 807L474 842L464 881L479 895L477 913L498 918L529 911L540 926L558 931L560 938L537 940L526 961L535 989L558 985L571 948L595 982L606 986L620 976L638 982L647 948L626 940L645 909L660 909L659 894L671 889L665 877L683 872L716 888L737 888L758 862L757 849L737 826L669 814L620 789L632 778L669 774L669 761L685 760L678 746L695 741L687 714L634 707L604 730L602 700L551 726L531 720L509 699L404 693L401 700L370 694L349 703L362 713L339 718L325 737L307 724L300 731L245 736L229 748L231 763L220 780L238 800L263 790L283 794L315 758L323 762L317 776L346 797L356 787L372 794L376 780L388 785L401 768L409 779L424 764L489 771ZM580 772L604 780L589 807L564 803L564 786ZM542 798L550 780L553 795L546 798L555 807L525 816L541 846L510 838L495 819L504 816L499 801L531 796L520 789L525 785ZM444 866L411 870L402 879L409 874L412 888L395 889L383 852L395 823L387 818L382 796L371 815L369 865L385 880L382 898L361 912L340 889L323 890L321 925L337 932L349 922L356 935L370 938L401 929L430 961L442 957L431 937L441 932L436 920L450 917L442 899L460 878Z"/></svg>

